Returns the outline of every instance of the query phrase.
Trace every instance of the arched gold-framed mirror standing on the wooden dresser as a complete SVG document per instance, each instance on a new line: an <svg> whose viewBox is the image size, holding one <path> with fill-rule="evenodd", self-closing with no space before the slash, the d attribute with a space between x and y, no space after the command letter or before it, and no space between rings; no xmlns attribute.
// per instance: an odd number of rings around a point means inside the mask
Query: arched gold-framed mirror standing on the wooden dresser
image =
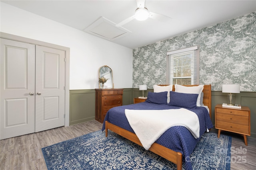
<svg viewBox="0 0 256 170"><path fill-rule="evenodd" d="M113 71L109 66L102 66L99 69L99 78L106 78L108 79L104 86L102 86L102 83L99 82L99 88L114 88L114 82L113 82Z"/></svg>

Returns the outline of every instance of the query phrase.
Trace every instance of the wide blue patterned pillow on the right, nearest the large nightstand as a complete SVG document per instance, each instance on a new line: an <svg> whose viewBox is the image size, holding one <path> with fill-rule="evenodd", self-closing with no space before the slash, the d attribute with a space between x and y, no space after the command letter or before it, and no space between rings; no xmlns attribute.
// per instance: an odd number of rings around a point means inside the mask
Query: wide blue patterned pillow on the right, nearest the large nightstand
<svg viewBox="0 0 256 170"><path fill-rule="evenodd" d="M179 106L195 109L198 94L178 93L170 91L170 106Z"/></svg>

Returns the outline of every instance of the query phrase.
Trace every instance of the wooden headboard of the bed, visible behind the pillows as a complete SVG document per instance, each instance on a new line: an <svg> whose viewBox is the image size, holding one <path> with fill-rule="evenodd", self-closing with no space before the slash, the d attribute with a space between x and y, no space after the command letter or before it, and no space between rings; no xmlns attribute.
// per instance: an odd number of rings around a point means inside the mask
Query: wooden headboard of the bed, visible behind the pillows
<svg viewBox="0 0 256 170"><path fill-rule="evenodd" d="M169 86L168 84L158 84L158 86ZM198 86L198 85L182 85L182 86ZM175 91L175 86L172 85L172 91ZM204 85L204 100L203 103L205 106L208 106L209 108L209 114L210 118L212 119L212 86L211 84L205 84Z"/></svg>

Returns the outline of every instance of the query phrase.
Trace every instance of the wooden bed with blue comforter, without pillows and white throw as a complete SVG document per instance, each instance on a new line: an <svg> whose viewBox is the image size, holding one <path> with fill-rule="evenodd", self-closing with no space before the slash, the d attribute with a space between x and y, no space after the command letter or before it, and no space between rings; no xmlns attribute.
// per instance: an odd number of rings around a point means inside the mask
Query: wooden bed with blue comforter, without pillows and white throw
<svg viewBox="0 0 256 170"><path fill-rule="evenodd" d="M168 85L159 85L168 86ZM186 85L186 87L192 87L198 85ZM178 87L178 86L177 86ZM175 92L175 86L172 86L172 91ZM193 111L198 115L200 122L200 137L204 134L207 129L212 128L211 118L211 85L203 86L203 104L202 107L186 108ZM198 95L199 96L199 95ZM171 98L172 99L172 98ZM206 107L208 107L208 111ZM142 146L140 139L134 133L132 127L130 126L126 116L125 109L131 110L164 110L164 109L180 109L179 106L169 106L160 105L150 102L142 102L138 104L131 104L127 106L118 106L110 109L104 119L102 131L106 130L106 137L108 136L108 129L129 139L130 141ZM183 126L174 126L166 130L148 149L163 158L173 162L177 165L177 170L182 170L182 162L184 162L184 167L186 170L191 170L191 162L188 161L188 156L193 151L196 143L200 140L199 138L194 138L190 131ZM169 140L172 138L173 140ZM166 140L168 139L168 140ZM175 139L175 140L174 140Z"/></svg>

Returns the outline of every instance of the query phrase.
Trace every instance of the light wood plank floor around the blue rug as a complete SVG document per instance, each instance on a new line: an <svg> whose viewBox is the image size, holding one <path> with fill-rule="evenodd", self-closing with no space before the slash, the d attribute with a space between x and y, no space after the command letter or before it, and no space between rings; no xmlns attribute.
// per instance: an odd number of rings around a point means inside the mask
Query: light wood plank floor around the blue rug
<svg viewBox="0 0 256 170"><path fill-rule="evenodd" d="M1 140L0 169L47 170L41 148L98 131L101 128L102 123L94 120ZM246 146L244 138L240 135L228 132L221 132L221 134L232 136L231 170L255 170L256 139L248 137L248 146Z"/></svg>

